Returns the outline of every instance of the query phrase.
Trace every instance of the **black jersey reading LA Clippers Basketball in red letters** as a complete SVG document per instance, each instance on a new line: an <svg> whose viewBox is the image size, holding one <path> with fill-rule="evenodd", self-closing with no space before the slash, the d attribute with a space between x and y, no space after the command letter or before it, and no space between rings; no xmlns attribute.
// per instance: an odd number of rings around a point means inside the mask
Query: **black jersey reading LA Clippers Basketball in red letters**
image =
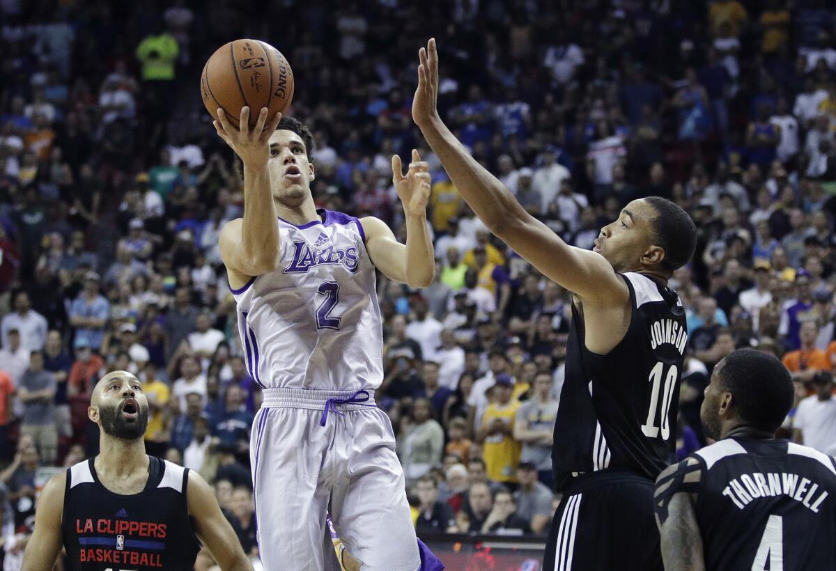
<svg viewBox="0 0 836 571"><path fill-rule="evenodd" d="M145 489L125 496L99 482L93 460L67 470L67 569L191 571L200 544L186 502L188 470L150 456Z"/></svg>

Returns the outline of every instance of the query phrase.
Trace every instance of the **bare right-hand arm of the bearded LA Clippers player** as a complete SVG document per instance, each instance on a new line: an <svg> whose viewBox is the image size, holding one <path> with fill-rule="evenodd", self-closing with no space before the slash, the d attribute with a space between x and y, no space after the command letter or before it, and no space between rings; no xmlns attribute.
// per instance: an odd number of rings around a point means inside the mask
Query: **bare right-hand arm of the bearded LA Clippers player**
<svg viewBox="0 0 836 571"><path fill-rule="evenodd" d="M223 517L212 488L193 470L189 471L186 500L189 502L189 514L195 523L197 537L222 571L252 571L252 563L244 554L227 518Z"/></svg>

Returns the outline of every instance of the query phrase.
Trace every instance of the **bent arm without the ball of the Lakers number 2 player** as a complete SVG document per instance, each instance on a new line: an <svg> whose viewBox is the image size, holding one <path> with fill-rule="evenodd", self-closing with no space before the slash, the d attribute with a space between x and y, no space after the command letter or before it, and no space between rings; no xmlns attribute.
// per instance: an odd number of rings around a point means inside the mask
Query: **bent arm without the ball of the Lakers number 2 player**
<svg viewBox="0 0 836 571"><path fill-rule="evenodd" d="M412 150L409 171L403 174L400 156L392 156L392 184L404 206L406 245L395 239L385 222L375 217L360 220L366 250L375 268L387 278L410 288L426 288L436 274L435 250L426 227L426 203L430 199L430 167Z"/></svg>

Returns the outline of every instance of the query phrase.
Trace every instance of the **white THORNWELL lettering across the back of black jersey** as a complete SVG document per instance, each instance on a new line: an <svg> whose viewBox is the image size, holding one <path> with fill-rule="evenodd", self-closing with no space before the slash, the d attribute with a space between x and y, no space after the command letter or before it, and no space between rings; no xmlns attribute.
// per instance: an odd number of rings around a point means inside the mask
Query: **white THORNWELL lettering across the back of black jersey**
<svg viewBox="0 0 836 571"><path fill-rule="evenodd" d="M812 484L812 486L811 486ZM788 472L770 472L762 474L753 472L743 474L741 477L733 478L729 485L723 489L723 496L729 497L734 505L743 509L749 502L759 497L788 496L793 500L801 502L811 512L818 513L818 507L828 497L828 492L823 491L816 495L819 486L808 478L801 478L797 474Z"/></svg>

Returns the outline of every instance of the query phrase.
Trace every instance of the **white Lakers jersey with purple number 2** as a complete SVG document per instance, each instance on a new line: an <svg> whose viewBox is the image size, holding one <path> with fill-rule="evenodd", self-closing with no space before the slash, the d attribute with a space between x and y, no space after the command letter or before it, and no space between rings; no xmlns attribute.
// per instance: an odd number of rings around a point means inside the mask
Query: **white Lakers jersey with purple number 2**
<svg viewBox="0 0 836 571"><path fill-rule="evenodd" d="M280 218L278 268L232 289L247 370L269 389L376 389L383 330L363 227L317 212L324 222Z"/></svg>

